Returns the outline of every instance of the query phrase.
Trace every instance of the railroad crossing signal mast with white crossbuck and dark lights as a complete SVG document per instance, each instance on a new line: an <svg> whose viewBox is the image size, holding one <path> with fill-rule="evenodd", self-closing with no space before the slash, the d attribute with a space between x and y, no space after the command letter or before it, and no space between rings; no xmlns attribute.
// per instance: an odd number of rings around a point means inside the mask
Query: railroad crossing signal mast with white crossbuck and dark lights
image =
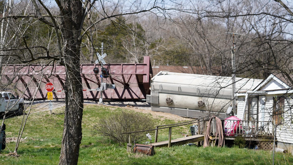
<svg viewBox="0 0 293 165"><path fill-rule="evenodd" d="M110 74L109 74L109 71L107 68L104 67L104 65L106 64L104 58L107 56L106 53L104 53L104 50L103 50L103 42L102 42L102 47L101 47L101 50L102 50L102 55L100 55L98 52L97 52L97 60L96 60L96 64L100 63L100 66L101 66L101 72L100 72L100 77L101 77L101 85L99 88L96 89L96 91L100 91L100 99L99 99L99 104L104 104L103 102L103 91L104 90L107 90L107 89L115 89L115 84L107 84L107 83L103 83L103 78L107 79ZM99 74L99 68L95 67L93 69L93 72L95 74Z"/></svg>

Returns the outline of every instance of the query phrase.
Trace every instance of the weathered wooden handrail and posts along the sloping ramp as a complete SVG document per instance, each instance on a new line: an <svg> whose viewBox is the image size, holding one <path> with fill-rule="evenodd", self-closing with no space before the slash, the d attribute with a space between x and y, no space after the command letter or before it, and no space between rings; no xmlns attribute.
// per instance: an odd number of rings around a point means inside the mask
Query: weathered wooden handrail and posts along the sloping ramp
<svg viewBox="0 0 293 165"><path fill-rule="evenodd" d="M176 123L176 124L158 125L158 126L156 126L156 129L151 129L151 130L124 132L122 134L128 134L127 152L131 152L131 146L132 146L131 134L132 133L155 131L155 142L157 142L157 140L158 140L158 130L169 128L168 147L171 147L172 128L173 127L183 126L183 125L194 124L194 123L198 123L197 124L198 125L198 134L200 134L201 132L203 132L203 133L205 132L207 119L204 119L204 118L191 120L191 121L187 121L187 122L182 122L182 123Z"/></svg>

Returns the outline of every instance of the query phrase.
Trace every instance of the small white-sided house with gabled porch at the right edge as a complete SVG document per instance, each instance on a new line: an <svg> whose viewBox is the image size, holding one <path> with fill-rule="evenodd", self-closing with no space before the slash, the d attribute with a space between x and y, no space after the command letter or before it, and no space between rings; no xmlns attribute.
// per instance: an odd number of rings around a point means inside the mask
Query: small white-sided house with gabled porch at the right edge
<svg viewBox="0 0 293 165"><path fill-rule="evenodd" d="M272 134L276 125L277 147L293 153L293 90L285 77L271 74L255 89L236 93L236 114L241 120L260 121L258 127Z"/></svg>

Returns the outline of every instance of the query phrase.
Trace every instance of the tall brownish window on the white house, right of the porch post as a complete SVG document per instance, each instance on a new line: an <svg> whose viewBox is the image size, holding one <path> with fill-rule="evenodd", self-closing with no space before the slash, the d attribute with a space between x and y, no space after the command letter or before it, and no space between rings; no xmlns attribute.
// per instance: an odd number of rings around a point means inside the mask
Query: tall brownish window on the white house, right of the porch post
<svg viewBox="0 0 293 165"><path fill-rule="evenodd" d="M284 121L285 97L274 97L273 120L277 125Z"/></svg>

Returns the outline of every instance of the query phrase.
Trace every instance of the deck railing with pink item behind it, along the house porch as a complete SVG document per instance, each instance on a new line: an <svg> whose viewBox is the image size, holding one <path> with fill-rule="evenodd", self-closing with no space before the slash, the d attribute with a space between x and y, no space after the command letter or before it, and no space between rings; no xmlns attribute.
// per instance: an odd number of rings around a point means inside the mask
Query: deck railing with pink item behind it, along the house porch
<svg viewBox="0 0 293 165"><path fill-rule="evenodd" d="M223 128L226 136L243 137L271 137L273 135L274 125L268 121L249 121L249 120L222 120L232 124L239 122L239 126L233 131L230 126ZM223 124L224 125L224 124ZM235 128L235 127L234 127Z"/></svg>

